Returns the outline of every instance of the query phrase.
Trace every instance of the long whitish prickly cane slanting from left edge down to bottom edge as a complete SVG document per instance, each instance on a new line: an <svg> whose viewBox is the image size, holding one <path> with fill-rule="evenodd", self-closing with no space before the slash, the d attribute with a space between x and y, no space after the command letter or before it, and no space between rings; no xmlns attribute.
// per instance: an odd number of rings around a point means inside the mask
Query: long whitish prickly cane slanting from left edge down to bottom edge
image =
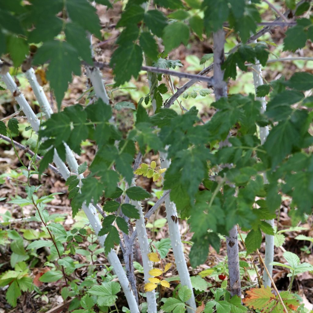
<svg viewBox="0 0 313 313"><path fill-rule="evenodd" d="M15 100L18 102L20 108L23 110L24 114L26 115L28 121L30 122L32 128L34 131L39 131L39 125L40 122L36 115L34 114L33 110L29 106L28 102L26 101L23 94L18 89L17 85L15 84L14 80L12 79L11 75L9 73L3 74L2 79L4 83L6 84L7 88L11 91L12 95L16 94ZM37 80L35 81L37 84ZM66 180L70 172L68 168L66 167L65 163L60 159L59 155L57 154L57 151L54 150L54 163L57 166L58 171L63 176L63 178ZM77 162L76 162L77 163ZM87 218L89 219L90 224L92 225L93 229L95 230L95 233L98 234L100 229L102 228L99 217L96 213L96 209L93 206L86 206L83 204L82 206L83 211L85 212ZM103 246L106 236L100 236L99 242L100 245ZM111 250L108 255L107 259L110 262L110 264L113 266L113 269L118 276L118 279L120 281L120 284L122 286L122 289L124 291L125 297L127 299L127 303L129 305L129 308L131 310L131 313L139 313L139 308L136 303L136 299L134 294L131 291L131 288L129 286L129 281L126 277L125 271L121 265L120 260L118 259L116 253L114 250Z"/></svg>

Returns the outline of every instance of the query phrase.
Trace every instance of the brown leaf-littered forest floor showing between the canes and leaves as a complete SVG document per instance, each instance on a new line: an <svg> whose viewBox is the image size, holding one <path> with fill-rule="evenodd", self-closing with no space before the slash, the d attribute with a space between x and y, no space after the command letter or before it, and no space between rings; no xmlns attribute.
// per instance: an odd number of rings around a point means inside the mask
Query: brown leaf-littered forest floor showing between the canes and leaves
<svg viewBox="0 0 313 313"><path fill-rule="evenodd" d="M121 8L116 4L113 10L106 10L106 7L99 6L98 13L100 16L100 21L103 26L103 41L99 41L98 39L94 39L94 46L95 53L96 53L96 60L99 62L108 62L110 59L110 55L112 53L113 44L115 38L118 36L119 31L115 29L115 24L118 21L119 14ZM264 17L266 19L266 17ZM236 38L230 38L227 40L226 49L231 49L236 44ZM269 45L269 49L273 52L273 55L278 53L281 50L282 40L283 40L283 31L280 27L276 27L270 34L265 36L265 39L271 41L273 44ZM162 47L161 47L162 49ZM199 59L203 56L203 54L212 53L212 42L209 40L200 41L199 38L194 37L192 44L188 45L187 47L180 46L174 53L172 53L169 58L170 59L180 59L184 67L180 68L180 71L187 71L190 73L197 73L201 69L203 69L203 65L199 64ZM279 52L280 53L280 52ZM312 56L313 49L312 45L308 46L307 49L303 49L301 51L297 51L296 54L299 56ZM288 55L284 55L280 53L280 57L287 57ZM209 63L205 65L208 66ZM176 69L177 70L177 69ZM272 63L270 64L266 70L264 70L264 78L267 81L275 80L280 78L281 76L285 76L289 78L292 73L295 71L308 71L313 73L313 61L304 62L304 61L296 61L296 62L285 62L284 64L281 63ZM20 71L16 73L16 80L19 81L21 85L21 90L23 91L26 99L32 105L33 109L36 113L39 112L39 107L36 104L36 100L32 93L30 86L28 85L26 79L24 78L23 74ZM106 79L106 84L109 86L108 91L111 97L112 103L117 103L120 101L130 101L133 102L135 105L139 101L140 97L145 96L148 92L148 84L146 73L142 72L138 78L138 80L132 80L130 83L126 84L124 87L133 87L134 89L120 89L115 90L113 92L112 86L110 84L113 83L113 76L111 69L104 69L103 76ZM179 81L176 78L173 78L174 85L177 87L182 86L182 84L186 80ZM0 85L4 87L3 82L0 81ZM85 104L87 94L82 96L82 93L87 89L87 81L86 77L82 75L82 77L75 76L73 82L69 86L69 90L65 95L63 105L68 106L74 103L77 103L77 99L79 103ZM193 87L192 87L193 88ZM191 90L192 90L191 88ZM204 84L198 84L196 88L206 88ZM243 94L247 94L249 92L254 92L253 89L253 80L252 80L252 72L248 71L247 73L242 73L237 77L236 82L231 82L229 85L229 92L242 92ZM56 110L56 104L51 97L51 93L49 90L48 85L44 85L44 90L48 99L51 100L52 107L54 111ZM170 96L170 95L167 95ZM182 99L179 98L179 101L182 102L182 105L187 109L190 108L192 105L196 105L200 111L202 119L205 121L212 116L214 111L210 108L210 103L214 101L213 95L207 95L206 97L197 96L196 99L188 98ZM148 105L149 108L149 105ZM175 110L179 110L179 106L176 104L173 106ZM14 114L18 110L17 104L14 101L14 98L9 94L8 91L0 91L0 119L10 116ZM150 110L151 111L151 110ZM133 111L129 109L123 110L114 110L115 118L118 123L118 127L121 129L130 129L133 125ZM20 126L20 134L14 137L14 140L21 142L22 144L26 144L27 139L31 136L31 131L25 130L28 126L28 123L25 119L23 119L23 115L19 114L15 117L19 118L19 122L21 122ZM96 147L90 143L85 142L83 144L83 153L79 156L76 155L79 164L83 162L87 162L90 164L94 155ZM25 151L18 150L19 157L21 160L28 164L28 157ZM152 153L147 153L143 156L142 162L150 164L151 161L159 162L158 155L153 155ZM23 207L21 209L18 205L6 203L8 200L12 200L16 196L25 197L26 192L25 188L22 185L22 182L25 182L25 177L21 175L21 171L18 169L21 166L18 157L15 155L15 152L12 146L0 140L0 200L1 198L6 198L0 201L0 230L3 228L10 228L15 229L18 233L23 234L25 239L31 238L29 233L31 232L40 232L43 228L43 225L37 222L27 222L24 218L32 216L34 214L34 208L30 206ZM34 186L40 187L40 193L43 194L50 194L54 192L61 192L61 194L55 195L54 199L46 205L46 208L49 210L49 213L57 213L60 216L60 221L64 225L66 230L70 230L73 227L79 227L86 223L86 219L83 214L78 214L76 218L72 218L71 216L71 207L70 202L68 199L68 191L67 187L65 186L65 182L61 179L56 173L48 170L46 172L46 176L43 176L41 180L38 180L38 177L33 176L31 178L31 184ZM147 211L154 202L157 200L158 190L160 190L160 184L155 183L151 179L146 177L139 177L137 179L137 185L142 186L147 191L153 194L153 198L149 201L143 203L144 210ZM281 207L279 210L279 216L275 222L275 226L277 227L278 231L281 231L280 239L282 239L282 235L285 235L284 243L280 247L275 247L275 256L274 261L286 263L285 259L283 258L284 251L290 251L297 254L300 258L301 262L307 262L309 264L313 264L313 240L311 241L304 241L304 240L297 240L295 239L296 236L299 234L313 237L313 219L312 217L308 217L304 223L299 223L296 225L299 228L295 228L295 230L290 230L291 221L288 216L288 212L290 209L290 199L287 197L283 197L283 201L281 203ZM9 214L8 214L9 212ZM10 216L10 223L9 225L3 226L1 220L4 220L4 217ZM153 240L161 240L168 237L167 234L167 225L165 222L165 210L164 205L161 205L160 209L157 211L156 214L152 216L149 220L149 228L148 234L149 238ZM183 234L183 241L184 241L184 249L186 251L186 256L191 248L190 240L192 238L192 233L190 232L186 221L180 220L180 227L181 233ZM286 230L283 232L284 230ZM288 230L289 229L289 230ZM88 243L83 242L79 244L81 249L86 249ZM0 247L0 275L1 273L5 272L10 267L10 256L11 250L10 246L4 245ZM248 258L245 256L245 249L244 245L241 241L239 241L239 250L242 251L241 259L246 260L249 264L252 264L252 261L255 263L256 268L258 270L258 274L261 275L261 266L258 261L258 257L256 254L250 255ZM120 249L119 249L120 251ZM262 244L261 254L264 254L264 244ZM30 313L34 310L36 311L49 311L51 313L61 312L62 310L53 310L53 308L60 305L63 300L60 295L60 286L59 282L56 283L41 283L38 281L38 277L42 275L44 263L47 262L47 250L41 249L38 252L38 262L31 268L32 275L34 277L34 284L38 286L42 295L36 296L36 292L32 292L31 294L23 293L20 297L20 301L18 301L18 306L16 308L12 308L10 305L7 304L5 299L5 293L3 287L0 287L0 313L8 313L8 312L23 312L23 313ZM119 257L122 260L121 251L119 252ZM196 276L199 272L212 268L220 264L224 266L225 264L225 257L226 257L226 244L222 241L220 251L215 251L214 249L210 249L210 253L208 255L208 259L205 264L198 266L195 269L189 266L189 272L191 276ZM86 258L83 255L75 255L74 259L81 263L86 263ZM140 263L140 256L137 256L137 260ZM168 262L174 263L175 260L173 258L172 252L167 254L166 260ZM123 260L122 260L123 261ZM186 262L188 263L188 259L186 257ZM93 264L95 263L95 264ZM109 265L105 255L103 253L97 256L96 262L90 262L92 264L92 268L97 270L99 273L103 271L104 265ZM140 269L136 269L136 279L138 285L143 282L143 274L141 273ZM273 279L278 290L287 290L289 285L289 277L287 274L289 271L283 267L275 267L273 272ZM82 267L75 271L75 278L83 280L84 277L88 274L88 267ZM167 273L167 277L171 277L171 288L170 289L162 289L159 290L160 292L160 299L162 297L169 297L172 296L172 292L179 283L178 280L175 280L177 276L177 271L173 266ZM204 279L211 283L212 286L220 286L222 281L218 278L218 276L210 277L205 276ZM250 288L252 285L258 286L257 275L253 270L249 269L249 274L244 275L242 280L242 287L243 293L244 290ZM141 292L142 284L141 284ZM305 303L305 307L312 310L313 308L313 275L306 272L300 274L296 277L294 284L292 286L292 290L299 294L299 296L303 299ZM127 306L126 302L124 301L122 293L119 294L120 298L118 301L118 309L121 310L122 306ZM209 290L198 291L197 292L197 300L199 305L209 296ZM64 309L64 312L67 310Z"/></svg>

